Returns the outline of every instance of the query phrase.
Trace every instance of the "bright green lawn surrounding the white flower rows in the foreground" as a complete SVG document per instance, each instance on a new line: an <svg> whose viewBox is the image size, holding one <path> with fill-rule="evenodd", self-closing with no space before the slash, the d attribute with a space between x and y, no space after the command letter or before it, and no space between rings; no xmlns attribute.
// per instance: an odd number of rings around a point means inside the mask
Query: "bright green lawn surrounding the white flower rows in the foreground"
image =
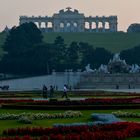
<svg viewBox="0 0 140 140"><path fill-rule="evenodd" d="M34 120L33 124L21 124L17 122L17 120L0 120L0 131L2 132L5 129L8 128L17 128L17 127L51 127L54 123L75 123L75 122L90 122L92 121L90 119L90 115L92 113L111 113L115 110L81 110L83 113L83 116L80 118L69 118L69 119L46 119L46 120ZM124 110L124 111L130 111L130 112L139 112L140 109L136 110ZM22 113L22 112L34 112L34 113L39 113L39 112L46 112L49 114L53 113L60 113L64 112L64 110L58 111L58 110L53 110L53 111L47 111L47 110L9 110L9 109L0 109L0 113ZM135 121L135 122L140 122L140 118L123 118L123 120L127 121Z"/></svg>

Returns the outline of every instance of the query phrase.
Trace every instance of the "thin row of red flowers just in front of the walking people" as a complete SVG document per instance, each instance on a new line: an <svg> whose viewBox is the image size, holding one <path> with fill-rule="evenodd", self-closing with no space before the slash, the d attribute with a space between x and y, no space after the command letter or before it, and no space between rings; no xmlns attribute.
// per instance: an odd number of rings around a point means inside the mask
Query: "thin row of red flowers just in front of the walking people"
<svg viewBox="0 0 140 140"><path fill-rule="evenodd" d="M47 101L47 100L32 100L32 99L0 99L0 103L21 103L24 105L101 105L101 104L136 104L140 97L133 98L88 98L77 101Z"/></svg>

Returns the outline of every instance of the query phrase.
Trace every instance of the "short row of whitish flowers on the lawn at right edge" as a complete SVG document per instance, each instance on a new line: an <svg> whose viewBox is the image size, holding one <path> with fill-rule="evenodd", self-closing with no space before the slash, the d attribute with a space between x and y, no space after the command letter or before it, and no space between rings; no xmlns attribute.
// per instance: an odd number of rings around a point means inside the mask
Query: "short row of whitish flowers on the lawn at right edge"
<svg viewBox="0 0 140 140"><path fill-rule="evenodd" d="M122 117L122 118L140 118L140 113L134 113L134 112L124 112L124 111L115 111L112 112L116 117Z"/></svg>

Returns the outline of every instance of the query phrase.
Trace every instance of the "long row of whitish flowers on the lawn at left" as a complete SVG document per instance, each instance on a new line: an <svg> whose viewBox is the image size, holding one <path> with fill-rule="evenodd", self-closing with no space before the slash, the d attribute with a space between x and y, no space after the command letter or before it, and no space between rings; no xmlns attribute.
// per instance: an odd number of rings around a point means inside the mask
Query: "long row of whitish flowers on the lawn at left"
<svg viewBox="0 0 140 140"><path fill-rule="evenodd" d="M65 111L64 113L20 113L20 114L12 114L12 113L3 113L0 114L0 120L18 120L22 117L28 117L33 120L41 120L41 119L55 119L55 118L74 118L81 117L82 113L80 111Z"/></svg>

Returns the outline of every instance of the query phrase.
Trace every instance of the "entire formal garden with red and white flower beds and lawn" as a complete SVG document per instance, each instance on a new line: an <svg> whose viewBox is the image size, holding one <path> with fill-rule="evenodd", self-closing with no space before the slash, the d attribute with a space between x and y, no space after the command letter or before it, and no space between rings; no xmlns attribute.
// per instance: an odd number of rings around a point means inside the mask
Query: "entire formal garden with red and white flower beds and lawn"
<svg viewBox="0 0 140 140"><path fill-rule="evenodd" d="M138 140L140 95L103 91L0 93L0 140Z"/></svg>

